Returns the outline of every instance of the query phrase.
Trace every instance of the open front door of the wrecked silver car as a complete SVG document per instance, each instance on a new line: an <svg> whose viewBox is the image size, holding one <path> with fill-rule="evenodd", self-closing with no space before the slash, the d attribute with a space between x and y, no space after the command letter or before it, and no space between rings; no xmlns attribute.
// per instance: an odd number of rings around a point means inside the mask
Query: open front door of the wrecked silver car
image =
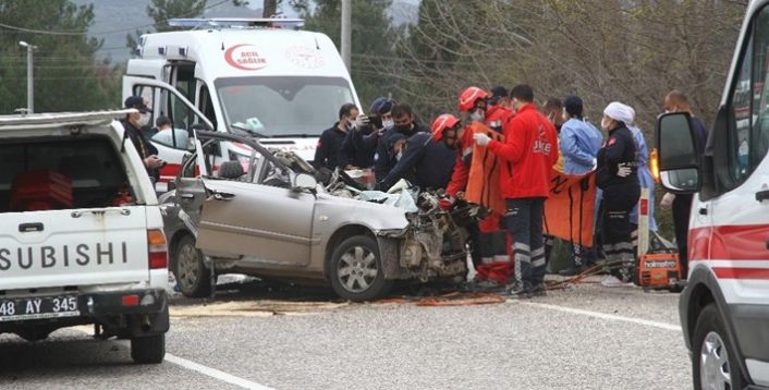
<svg viewBox="0 0 769 390"><path fill-rule="evenodd" d="M244 173L243 178L251 176ZM306 266L315 243L315 195L290 190L289 178L281 181L274 172L254 176L254 182L203 179L208 196L200 214L198 248L260 266Z"/></svg>

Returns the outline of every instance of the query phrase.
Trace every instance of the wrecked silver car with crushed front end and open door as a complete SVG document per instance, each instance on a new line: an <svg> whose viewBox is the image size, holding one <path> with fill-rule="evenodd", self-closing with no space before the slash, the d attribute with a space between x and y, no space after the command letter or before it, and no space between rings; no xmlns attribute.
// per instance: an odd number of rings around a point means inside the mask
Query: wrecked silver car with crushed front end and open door
<svg viewBox="0 0 769 390"><path fill-rule="evenodd" d="M216 276L330 284L369 301L396 280L461 281L464 230L431 193L365 192L249 136L197 132L172 191L161 196L171 270L186 296L206 296ZM221 161L220 143L252 150ZM361 200L367 198L366 200Z"/></svg>

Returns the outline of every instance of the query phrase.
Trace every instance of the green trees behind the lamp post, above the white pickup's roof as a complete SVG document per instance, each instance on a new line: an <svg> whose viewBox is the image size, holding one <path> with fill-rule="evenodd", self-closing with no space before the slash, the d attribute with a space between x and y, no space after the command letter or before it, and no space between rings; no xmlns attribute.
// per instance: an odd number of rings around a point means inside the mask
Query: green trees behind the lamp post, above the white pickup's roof
<svg viewBox="0 0 769 390"><path fill-rule="evenodd" d="M93 5L69 0L0 0L0 22L30 33L2 29L0 34L0 112L26 107L25 40L35 51L35 111L80 111L119 107L119 84L108 62L95 63L101 41L85 32L94 21ZM120 87L118 86L118 92ZM119 97L118 97L119 98Z"/></svg>

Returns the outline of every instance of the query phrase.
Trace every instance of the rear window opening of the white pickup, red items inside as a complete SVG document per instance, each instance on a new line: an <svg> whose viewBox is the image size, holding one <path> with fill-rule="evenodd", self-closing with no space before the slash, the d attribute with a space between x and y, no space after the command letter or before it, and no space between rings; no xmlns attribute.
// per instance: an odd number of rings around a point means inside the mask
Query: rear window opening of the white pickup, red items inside
<svg viewBox="0 0 769 390"><path fill-rule="evenodd" d="M0 212L112 206L130 193L112 142L102 136L0 144Z"/></svg>

